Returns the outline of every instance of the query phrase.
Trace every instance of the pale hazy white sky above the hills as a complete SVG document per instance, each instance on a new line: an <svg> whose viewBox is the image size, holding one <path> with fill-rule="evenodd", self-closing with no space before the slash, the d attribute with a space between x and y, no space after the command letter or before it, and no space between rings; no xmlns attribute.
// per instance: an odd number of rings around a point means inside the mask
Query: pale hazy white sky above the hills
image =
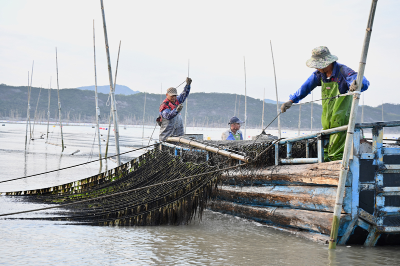
<svg viewBox="0 0 400 266"><path fill-rule="evenodd" d="M312 73L311 49L325 45L358 69L370 0L104 0L112 72L119 55L117 84L160 93L187 76L191 92L244 94L275 99L272 41L279 99ZM394 72L400 57L400 1L380 0L365 76L371 85L364 103L400 103ZM56 88L94 85L93 19L97 85L109 84L100 0L0 0L0 83ZM314 99L320 98L319 88ZM307 96L308 100L310 96ZM362 98L361 98L362 100Z"/></svg>

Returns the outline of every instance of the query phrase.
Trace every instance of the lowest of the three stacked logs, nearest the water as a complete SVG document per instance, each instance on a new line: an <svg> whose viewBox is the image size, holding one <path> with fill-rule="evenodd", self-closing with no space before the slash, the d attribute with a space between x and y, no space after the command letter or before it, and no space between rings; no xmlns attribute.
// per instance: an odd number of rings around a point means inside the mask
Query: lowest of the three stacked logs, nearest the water
<svg viewBox="0 0 400 266"><path fill-rule="evenodd" d="M289 209L283 207L259 207L246 204L235 204L228 201L214 200L209 209L215 212L230 214L264 223L273 223L281 226L300 228L322 234L330 234L332 213ZM340 216L339 236L350 221L351 216Z"/></svg>

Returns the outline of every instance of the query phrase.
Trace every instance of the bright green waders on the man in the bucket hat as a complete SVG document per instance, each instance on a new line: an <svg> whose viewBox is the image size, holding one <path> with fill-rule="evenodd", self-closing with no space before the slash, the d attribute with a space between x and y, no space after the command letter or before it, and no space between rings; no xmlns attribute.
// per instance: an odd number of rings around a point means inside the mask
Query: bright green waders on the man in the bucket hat
<svg viewBox="0 0 400 266"><path fill-rule="evenodd" d="M340 70L337 72L340 75ZM323 83L321 79L321 87L322 99L340 94L337 82ZM322 100L322 129L347 125L350 118L351 102L351 95ZM323 159L325 162L337 161L343 158L346 133L347 131L329 135L329 144L323 149Z"/></svg>

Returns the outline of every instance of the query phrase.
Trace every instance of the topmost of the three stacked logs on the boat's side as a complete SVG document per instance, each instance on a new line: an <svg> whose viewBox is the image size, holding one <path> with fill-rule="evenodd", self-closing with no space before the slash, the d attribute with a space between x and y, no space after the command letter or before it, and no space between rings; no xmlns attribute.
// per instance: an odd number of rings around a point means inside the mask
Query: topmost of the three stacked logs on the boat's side
<svg viewBox="0 0 400 266"><path fill-rule="evenodd" d="M322 185L337 186L341 161L316 164L277 165L262 169L240 169L221 175L224 184L234 185ZM346 186L351 185L351 175Z"/></svg>

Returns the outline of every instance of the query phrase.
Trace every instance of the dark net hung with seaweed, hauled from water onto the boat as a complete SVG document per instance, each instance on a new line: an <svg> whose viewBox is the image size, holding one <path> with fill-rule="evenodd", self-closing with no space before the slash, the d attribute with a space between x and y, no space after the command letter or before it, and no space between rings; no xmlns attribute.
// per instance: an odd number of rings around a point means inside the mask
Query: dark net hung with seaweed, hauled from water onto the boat
<svg viewBox="0 0 400 266"><path fill-rule="evenodd" d="M254 158L272 141L209 143ZM315 151L315 145L310 147L311 151ZM274 153L272 147L252 164L240 166L238 171L257 171L272 166ZM285 153L285 145L279 146L280 156L285 157ZM303 157L305 142L293 144L293 158ZM174 148L163 146L162 149L154 148L130 162L89 178L44 189L7 192L5 195L24 196L26 201L35 203L76 203L62 207L56 217L27 219L70 221L83 225L180 225L189 223L196 214L201 219L209 199L217 191L218 178L226 170L209 172L239 164L243 163L189 146L178 150L177 155ZM195 176L198 174L204 175ZM194 177L101 198L189 176ZM87 199L93 200L81 202Z"/></svg>

